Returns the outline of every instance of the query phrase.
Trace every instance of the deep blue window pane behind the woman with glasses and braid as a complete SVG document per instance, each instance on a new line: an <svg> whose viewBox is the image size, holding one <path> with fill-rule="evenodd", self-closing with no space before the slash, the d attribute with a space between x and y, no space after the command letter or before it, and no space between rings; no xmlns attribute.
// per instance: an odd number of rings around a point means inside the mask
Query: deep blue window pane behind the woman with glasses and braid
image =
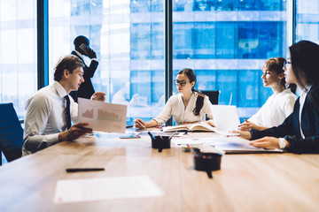
<svg viewBox="0 0 319 212"><path fill-rule="evenodd" d="M286 54L286 1L173 4L173 77L192 68L198 90L220 90L220 104L237 105L240 117L251 117L272 94L262 87L262 64Z"/></svg>

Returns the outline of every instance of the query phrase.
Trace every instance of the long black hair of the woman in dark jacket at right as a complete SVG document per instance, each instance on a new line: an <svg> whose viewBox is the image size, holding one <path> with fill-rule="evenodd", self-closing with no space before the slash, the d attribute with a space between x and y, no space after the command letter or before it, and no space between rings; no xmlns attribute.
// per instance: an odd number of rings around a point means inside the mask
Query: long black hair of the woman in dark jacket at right
<svg viewBox="0 0 319 212"><path fill-rule="evenodd" d="M292 59L292 71L296 76L301 89L307 89L307 85L315 86L314 92L307 93L310 101L314 103L315 108L319 110L319 45L315 42L300 41L289 47ZM301 78L306 81L303 82Z"/></svg>

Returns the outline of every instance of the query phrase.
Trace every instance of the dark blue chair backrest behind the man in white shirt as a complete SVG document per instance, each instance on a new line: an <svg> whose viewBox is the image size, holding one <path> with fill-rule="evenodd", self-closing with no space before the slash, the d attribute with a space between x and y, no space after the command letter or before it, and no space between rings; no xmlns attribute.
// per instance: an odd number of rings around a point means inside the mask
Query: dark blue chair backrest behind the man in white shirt
<svg viewBox="0 0 319 212"><path fill-rule="evenodd" d="M0 150L8 162L22 155L23 129L12 103L0 103Z"/></svg>

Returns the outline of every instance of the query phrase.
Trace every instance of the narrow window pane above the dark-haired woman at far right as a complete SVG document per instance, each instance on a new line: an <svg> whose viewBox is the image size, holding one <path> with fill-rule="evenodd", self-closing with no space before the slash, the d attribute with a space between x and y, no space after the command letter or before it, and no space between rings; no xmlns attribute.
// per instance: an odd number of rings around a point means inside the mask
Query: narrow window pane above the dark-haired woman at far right
<svg viewBox="0 0 319 212"><path fill-rule="evenodd" d="M296 42L308 40L319 43L319 1L296 1Z"/></svg>

